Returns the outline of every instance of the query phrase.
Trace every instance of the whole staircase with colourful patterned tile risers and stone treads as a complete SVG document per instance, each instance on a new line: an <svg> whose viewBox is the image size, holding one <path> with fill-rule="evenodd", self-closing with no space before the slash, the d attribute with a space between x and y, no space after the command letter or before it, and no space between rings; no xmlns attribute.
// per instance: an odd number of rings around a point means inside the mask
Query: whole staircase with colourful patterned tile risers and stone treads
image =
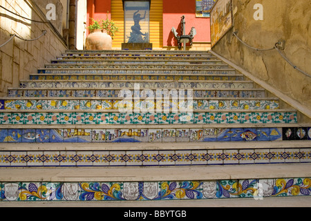
<svg viewBox="0 0 311 221"><path fill-rule="evenodd" d="M1 201L310 195L311 124L206 51L67 51L0 98Z"/></svg>

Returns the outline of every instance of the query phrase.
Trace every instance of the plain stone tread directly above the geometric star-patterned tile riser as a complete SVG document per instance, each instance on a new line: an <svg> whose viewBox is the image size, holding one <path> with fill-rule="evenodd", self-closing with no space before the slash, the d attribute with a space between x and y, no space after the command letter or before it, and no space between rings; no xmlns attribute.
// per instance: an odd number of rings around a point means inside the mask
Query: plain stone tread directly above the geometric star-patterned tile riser
<svg viewBox="0 0 311 221"><path fill-rule="evenodd" d="M298 125L297 125L298 126ZM299 124L299 126L311 126ZM15 128L17 129L17 128ZM26 128L25 128L26 129ZM40 128L38 128L39 130ZM94 128L96 129L96 128ZM233 146L234 144L234 146ZM260 142L90 142L90 143L0 143L0 151L232 151L275 150L311 151L311 140L275 140ZM0 153L1 153L0 152Z"/></svg>

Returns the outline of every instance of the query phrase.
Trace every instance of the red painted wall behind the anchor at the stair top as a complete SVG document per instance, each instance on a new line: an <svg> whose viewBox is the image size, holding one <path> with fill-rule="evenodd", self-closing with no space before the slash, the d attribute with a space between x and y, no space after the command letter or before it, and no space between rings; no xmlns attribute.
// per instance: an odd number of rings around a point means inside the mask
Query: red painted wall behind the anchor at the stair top
<svg viewBox="0 0 311 221"><path fill-rule="evenodd" d="M177 46L171 32L176 28L180 35L180 19L185 15L186 35L192 27L196 28L195 42L210 42L210 19L196 17L196 0L163 0L163 46Z"/></svg>

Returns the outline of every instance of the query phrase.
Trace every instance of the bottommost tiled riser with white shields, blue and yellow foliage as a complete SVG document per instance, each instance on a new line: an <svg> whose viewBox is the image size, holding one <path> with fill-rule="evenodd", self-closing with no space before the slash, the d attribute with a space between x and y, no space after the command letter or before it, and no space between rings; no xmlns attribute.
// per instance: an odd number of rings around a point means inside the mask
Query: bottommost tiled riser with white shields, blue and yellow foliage
<svg viewBox="0 0 311 221"><path fill-rule="evenodd" d="M6 201L208 200L310 195L310 177L162 182L3 182ZM305 205L308 206L308 205Z"/></svg>

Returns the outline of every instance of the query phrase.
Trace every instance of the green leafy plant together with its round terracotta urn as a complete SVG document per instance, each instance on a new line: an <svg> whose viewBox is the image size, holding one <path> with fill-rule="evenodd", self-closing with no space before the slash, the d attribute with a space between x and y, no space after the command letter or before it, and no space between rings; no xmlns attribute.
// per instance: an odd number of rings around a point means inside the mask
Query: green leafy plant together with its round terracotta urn
<svg viewBox="0 0 311 221"><path fill-rule="evenodd" d="M112 39L119 28L108 18L108 15L106 20L92 19L92 21L93 24L88 26L90 34L86 38L86 50L111 50Z"/></svg>

